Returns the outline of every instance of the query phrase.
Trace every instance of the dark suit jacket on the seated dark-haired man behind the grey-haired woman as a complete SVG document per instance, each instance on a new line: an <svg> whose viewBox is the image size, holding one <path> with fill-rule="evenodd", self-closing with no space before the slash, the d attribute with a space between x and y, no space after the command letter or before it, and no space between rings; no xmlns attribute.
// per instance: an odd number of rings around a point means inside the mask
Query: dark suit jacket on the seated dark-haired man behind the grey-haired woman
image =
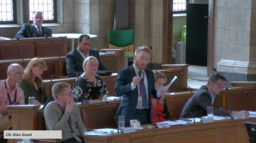
<svg viewBox="0 0 256 143"><path fill-rule="evenodd" d="M89 56L95 56L98 59L99 61L98 70L106 71L106 68L104 67L100 59L99 51L97 49L90 49L88 52L89 52ZM66 55L67 74L71 77L75 77L76 73L78 73L78 75L81 75L84 72L82 67L83 61L84 60L82 58L82 55L80 54L77 48L75 48L70 53L68 53Z"/></svg>

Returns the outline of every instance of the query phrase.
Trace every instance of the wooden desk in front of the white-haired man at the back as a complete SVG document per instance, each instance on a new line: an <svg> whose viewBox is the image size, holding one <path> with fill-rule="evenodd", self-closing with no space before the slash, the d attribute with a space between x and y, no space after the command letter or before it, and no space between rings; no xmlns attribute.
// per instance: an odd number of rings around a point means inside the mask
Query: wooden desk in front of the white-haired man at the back
<svg viewBox="0 0 256 143"><path fill-rule="evenodd" d="M60 56L68 53L66 37L49 37L52 44L59 50ZM19 39L24 59L59 56L58 51L46 38ZM22 59L18 40L0 40L0 60Z"/></svg>

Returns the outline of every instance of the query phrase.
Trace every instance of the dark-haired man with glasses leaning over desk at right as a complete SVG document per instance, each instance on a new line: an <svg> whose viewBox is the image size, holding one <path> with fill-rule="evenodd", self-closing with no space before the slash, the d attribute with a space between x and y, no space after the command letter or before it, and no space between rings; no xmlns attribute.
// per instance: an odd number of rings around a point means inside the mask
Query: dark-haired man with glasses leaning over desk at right
<svg viewBox="0 0 256 143"><path fill-rule="evenodd" d="M186 103L183 107L180 118L193 118L188 109L191 111L195 118L207 116L207 107L215 106L215 97L225 89L227 78L219 73L212 73L209 76L206 85L203 85ZM188 109L187 109L188 108ZM245 117L249 116L248 111L231 111L214 108L215 116L231 117L236 114L244 114Z"/></svg>

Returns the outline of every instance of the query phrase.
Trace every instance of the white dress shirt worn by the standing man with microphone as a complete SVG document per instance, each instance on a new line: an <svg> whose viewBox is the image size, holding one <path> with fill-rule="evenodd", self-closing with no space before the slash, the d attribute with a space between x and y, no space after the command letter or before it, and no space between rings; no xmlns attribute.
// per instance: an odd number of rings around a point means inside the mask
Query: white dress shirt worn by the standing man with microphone
<svg viewBox="0 0 256 143"><path fill-rule="evenodd" d="M135 66L135 64L133 64L133 68L134 68L134 71L136 73L137 76L139 76L139 70L138 68ZM141 77L143 78L143 72L145 72L145 70L141 71ZM142 79L141 79L142 80ZM139 109L139 102L141 101L142 102L142 96L140 97L140 85L139 83L137 84L138 85L138 103L137 103L137 109ZM146 88L146 98L147 98L147 102L148 102L148 86L147 86L147 78L146 78L146 73L144 74L144 86ZM132 82L132 85L131 85L131 88L132 90L136 89L135 85L133 84Z"/></svg>

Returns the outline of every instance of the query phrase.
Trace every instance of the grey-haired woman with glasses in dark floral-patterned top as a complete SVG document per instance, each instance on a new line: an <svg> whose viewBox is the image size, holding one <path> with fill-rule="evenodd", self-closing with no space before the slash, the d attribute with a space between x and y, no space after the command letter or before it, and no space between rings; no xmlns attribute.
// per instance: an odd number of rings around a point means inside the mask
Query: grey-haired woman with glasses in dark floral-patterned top
<svg viewBox="0 0 256 143"><path fill-rule="evenodd" d="M76 102L82 102L92 99L92 95L90 95L90 91L86 92L87 88L90 87L102 87L99 92L100 99L102 99L103 95L106 91L106 84L103 79L96 74L99 67L99 61L95 56L88 56L86 60L83 61L83 71L84 73L80 75L74 83L73 92L74 99Z"/></svg>

